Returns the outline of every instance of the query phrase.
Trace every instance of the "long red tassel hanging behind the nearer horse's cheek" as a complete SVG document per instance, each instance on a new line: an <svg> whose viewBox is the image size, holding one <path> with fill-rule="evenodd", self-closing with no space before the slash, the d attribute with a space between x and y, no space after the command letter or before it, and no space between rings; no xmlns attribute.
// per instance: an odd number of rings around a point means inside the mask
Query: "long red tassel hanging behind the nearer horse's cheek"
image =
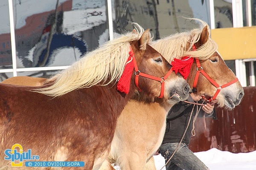
<svg viewBox="0 0 256 170"><path fill-rule="evenodd" d="M125 94L128 94L130 91L131 75L134 69L134 62L132 56L134 56L134 54L132 51L130 51L128 60L125 65L125 69L119 81L117 82L117 90L120 92L124 92Z"/></svg>

